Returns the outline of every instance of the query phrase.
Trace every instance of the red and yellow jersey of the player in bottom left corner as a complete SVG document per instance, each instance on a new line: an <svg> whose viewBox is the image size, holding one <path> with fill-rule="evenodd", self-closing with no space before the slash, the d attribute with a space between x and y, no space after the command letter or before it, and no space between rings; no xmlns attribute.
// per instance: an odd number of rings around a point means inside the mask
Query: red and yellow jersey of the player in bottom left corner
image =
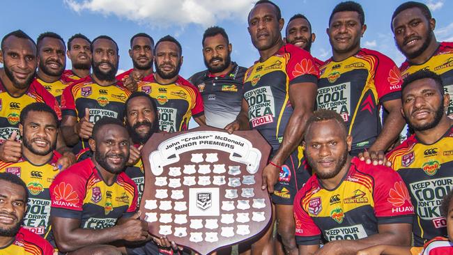
<svg viewBox="0 0 453 255"><path fill-rule="evenodd" d="M20 228L15 240L6 247L0 248L1 255L52 255L54 247L44 238Z"/></svg>

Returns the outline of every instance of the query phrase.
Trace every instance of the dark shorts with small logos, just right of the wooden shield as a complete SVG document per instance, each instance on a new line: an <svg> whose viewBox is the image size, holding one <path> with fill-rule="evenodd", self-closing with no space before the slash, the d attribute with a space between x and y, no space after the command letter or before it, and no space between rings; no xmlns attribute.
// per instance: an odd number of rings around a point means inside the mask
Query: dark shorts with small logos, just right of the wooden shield
<svg viewBox="0 0 453 255"><path fill-rule="evenodd" d="M282 164L279 180L274 185L272 202L279 205L292 205L295 194L302 189L311 174L312 170L303 157L303 150L299 147Z"/></svg>

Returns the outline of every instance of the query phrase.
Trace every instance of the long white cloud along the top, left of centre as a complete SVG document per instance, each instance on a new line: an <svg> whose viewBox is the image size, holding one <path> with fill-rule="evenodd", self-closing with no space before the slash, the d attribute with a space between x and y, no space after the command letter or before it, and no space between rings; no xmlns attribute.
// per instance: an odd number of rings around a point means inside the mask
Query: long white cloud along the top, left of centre
<svg viewBox="0 0 453 255"><path fill-rule="evenodd" d="M64 0L77 13L90 10L116 15L155 27L199 24L207 27L221 20L247 20L255 0Z"/></svg>

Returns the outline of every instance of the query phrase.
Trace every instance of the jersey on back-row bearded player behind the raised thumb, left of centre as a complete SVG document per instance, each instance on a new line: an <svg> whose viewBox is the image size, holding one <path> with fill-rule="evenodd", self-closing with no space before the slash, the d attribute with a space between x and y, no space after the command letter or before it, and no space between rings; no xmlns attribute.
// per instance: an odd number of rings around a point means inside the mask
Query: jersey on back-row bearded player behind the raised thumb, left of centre
<svg viewBox="0 0 453 255"><path fill-rule="evenodd" d="M123 121L125 101L130 91L112 84L100 86L91 77L81 80L66 87L61 96L61 110L63 116L70 115L77 117L77 121L85 116L85 108L90 109L90 122L96 123L100 118L112 117ZM87 140L79 141L74 147L74 152L89 148Z"/></svg>

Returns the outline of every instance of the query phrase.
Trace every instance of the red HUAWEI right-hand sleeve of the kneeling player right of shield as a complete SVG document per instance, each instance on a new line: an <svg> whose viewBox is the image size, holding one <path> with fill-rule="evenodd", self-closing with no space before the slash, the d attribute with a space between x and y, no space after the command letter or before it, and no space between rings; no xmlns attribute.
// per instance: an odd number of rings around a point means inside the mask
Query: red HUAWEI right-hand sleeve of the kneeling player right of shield
<svg viewBox="0 0 453 255"><path fill-rule="evenodd" d="M412 223L414 208L401 176L390 167L377 167L373 192L378 224Z"/></svg>

